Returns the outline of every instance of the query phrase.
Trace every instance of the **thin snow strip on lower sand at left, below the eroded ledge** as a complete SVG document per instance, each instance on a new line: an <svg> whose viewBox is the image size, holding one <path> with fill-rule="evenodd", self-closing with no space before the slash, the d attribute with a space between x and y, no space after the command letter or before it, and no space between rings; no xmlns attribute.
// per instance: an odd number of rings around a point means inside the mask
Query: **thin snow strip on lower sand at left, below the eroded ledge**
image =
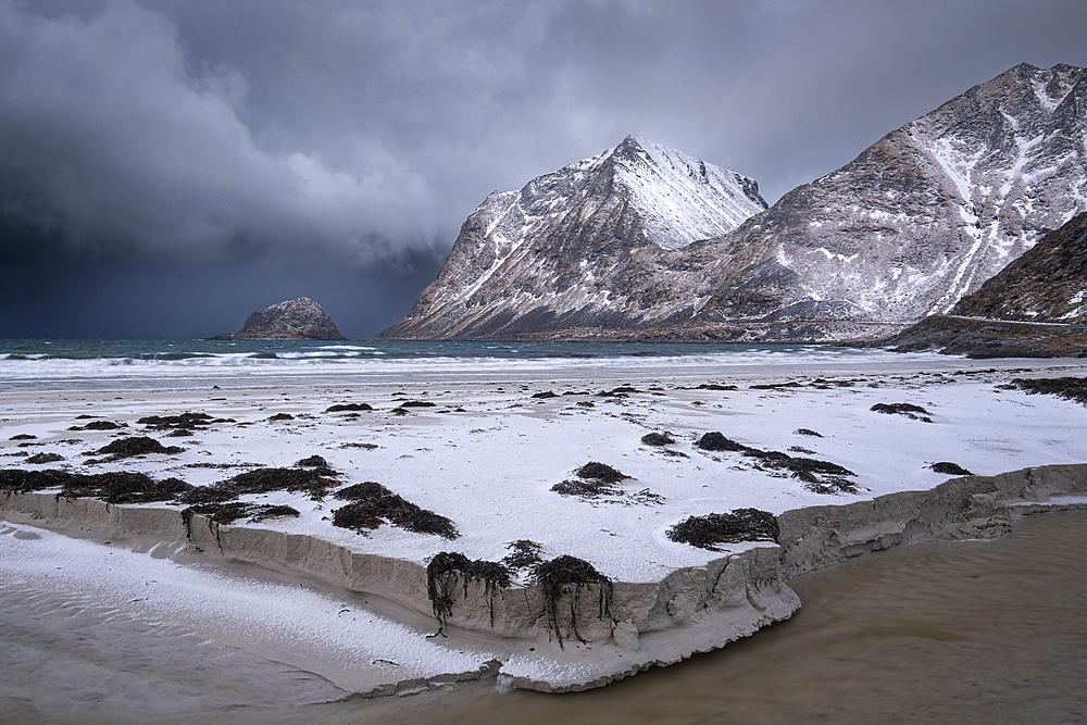
<svg viewBox="0 0 1087 725"><path fill-rule="evenodd" d="M157 628L185 628L266 660L318 672L347 692L383 683L471 672L487 653L466 654L427 640L357 605L310 589L180 564L177 552L146 553L0 524L4 589L62 597L64 607L104 609Z"/></svg>

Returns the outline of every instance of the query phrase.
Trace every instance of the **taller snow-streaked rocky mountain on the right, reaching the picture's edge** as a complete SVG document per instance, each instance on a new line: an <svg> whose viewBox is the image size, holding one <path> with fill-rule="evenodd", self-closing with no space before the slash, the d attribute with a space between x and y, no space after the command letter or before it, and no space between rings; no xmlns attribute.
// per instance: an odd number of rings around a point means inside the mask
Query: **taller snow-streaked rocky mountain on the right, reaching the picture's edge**
<svg viewBox="0 0 1087 725"><path fill-rule="evenodd" d="M1023 64L975 86L720 240L765 261L724 279L700 316L947 312L1087 209L1085 132L1084 68Z"/></svg>

